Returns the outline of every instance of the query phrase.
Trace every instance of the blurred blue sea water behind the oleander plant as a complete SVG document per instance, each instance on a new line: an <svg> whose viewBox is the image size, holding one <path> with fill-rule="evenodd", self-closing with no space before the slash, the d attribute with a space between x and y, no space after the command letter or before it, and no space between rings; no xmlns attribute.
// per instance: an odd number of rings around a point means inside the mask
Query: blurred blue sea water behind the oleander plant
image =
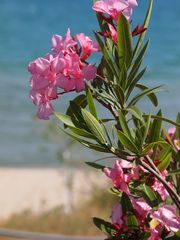
<svg viewBox="0 0 180 240"><path fill-rule="evenodd" d="M138 2L133 24L142 23L148 4ZM166 85L168 91L159 94L160 107L175 119L180 111L180 0L154 2L144 82ZM52 167L86 160L79 145L56 134L52 121L34 117L27 64L50 50L53 34L64 35L68 27L73 34L98 30L91 7L91 0L0 0L0 166ZM67 104L67 98L60 99L56 109L65 111ZM141 105L150 108L146 101Z"/></svg>

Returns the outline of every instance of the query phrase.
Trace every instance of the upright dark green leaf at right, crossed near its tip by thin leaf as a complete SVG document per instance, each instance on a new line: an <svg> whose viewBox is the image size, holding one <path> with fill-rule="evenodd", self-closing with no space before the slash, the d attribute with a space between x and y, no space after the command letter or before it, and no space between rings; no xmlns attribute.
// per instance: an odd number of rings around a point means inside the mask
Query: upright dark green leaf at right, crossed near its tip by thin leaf
<svg viewBox="0 0 180 240"><path fill-rule="evenodd" d="M157 113L157 116L162 117L161 110ZM149 143L159 141L159 137L160 137L160 133L161 133L161 127L162 127L162 120L161 119L154 119L154 121L152 123L152 126L151 126L150 134L149 134L149 137L148 137L148 142Z"/></svg>

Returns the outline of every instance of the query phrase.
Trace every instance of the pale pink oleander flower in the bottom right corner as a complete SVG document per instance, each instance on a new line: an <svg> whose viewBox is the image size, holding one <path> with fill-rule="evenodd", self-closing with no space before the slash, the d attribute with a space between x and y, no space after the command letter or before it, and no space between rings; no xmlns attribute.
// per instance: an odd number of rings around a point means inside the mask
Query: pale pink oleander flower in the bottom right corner
<svg viewBox="0 0 180 240"><path fill-rule="evenodd" d="M150 217L155 218L168 231L177 232L180 229L180 217L177 216L174 206L163 205L157 211L152 211Z"/></svg>

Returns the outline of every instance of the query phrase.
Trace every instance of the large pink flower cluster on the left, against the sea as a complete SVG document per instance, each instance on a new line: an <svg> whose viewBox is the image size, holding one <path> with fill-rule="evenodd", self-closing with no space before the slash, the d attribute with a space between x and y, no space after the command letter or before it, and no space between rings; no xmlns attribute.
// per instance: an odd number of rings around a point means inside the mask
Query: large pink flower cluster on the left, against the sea
<svg viewBox="0 0 180 240"><path fill-rule="evenodd" d="M78 41L80 47L78 46ZM38 107L38 117L49 119L54 112L51 100L60 96L58 88L65 92L80 92L85 87L85 80L95 77L96 67L87 63L92 52L98 52L99 46L92 39L80 33L72 37L70 30L62 37L52 37L52 51L44 58L40 57L29 63L32 74L30 97Z"/></svg>

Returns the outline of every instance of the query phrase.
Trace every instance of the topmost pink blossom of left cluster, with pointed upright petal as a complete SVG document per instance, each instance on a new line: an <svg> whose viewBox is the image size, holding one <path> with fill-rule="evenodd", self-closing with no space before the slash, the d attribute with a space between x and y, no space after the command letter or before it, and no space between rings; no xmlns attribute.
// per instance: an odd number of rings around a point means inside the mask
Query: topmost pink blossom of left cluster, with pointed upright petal
<svg viewBox="0 0 180 240"><path fill-rule="evenodd" d="M69 28L64 37L59 35L53 35L52 37L52 51L54 52L64 52L74 47L75 45L77 45L77 42L74 40L73 37L71 37L71 32Z"/></svg>

